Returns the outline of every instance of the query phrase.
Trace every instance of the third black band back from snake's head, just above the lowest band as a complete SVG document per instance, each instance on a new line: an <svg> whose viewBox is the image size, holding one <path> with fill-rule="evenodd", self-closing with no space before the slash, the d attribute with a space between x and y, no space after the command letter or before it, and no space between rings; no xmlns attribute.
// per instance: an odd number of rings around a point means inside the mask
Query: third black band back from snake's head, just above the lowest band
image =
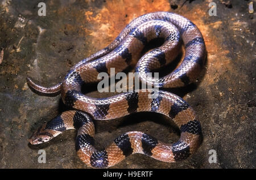
<svg viewBox="0 0 256 180"><path fill-rule="evenodd" d="M89 134L80 134L76 137L76 151L81 148L88 148L88 145L94 145L94 139Z"/></svg>

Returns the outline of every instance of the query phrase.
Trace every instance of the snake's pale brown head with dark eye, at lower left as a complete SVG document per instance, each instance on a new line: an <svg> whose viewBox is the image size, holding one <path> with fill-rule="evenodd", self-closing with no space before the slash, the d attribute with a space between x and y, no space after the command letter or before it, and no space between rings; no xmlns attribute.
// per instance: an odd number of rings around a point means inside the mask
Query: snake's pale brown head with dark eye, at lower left
<svg viewBox="0 0 256 180"><path fill-rule="evenodd" d="M30 144L42 144L45 142L48 142L53 138L53 135L51 134L50 131L46 130L44 126L41 126L38 128L37 131L35 131L30 139L28 139L28 142Z"/></svg>

